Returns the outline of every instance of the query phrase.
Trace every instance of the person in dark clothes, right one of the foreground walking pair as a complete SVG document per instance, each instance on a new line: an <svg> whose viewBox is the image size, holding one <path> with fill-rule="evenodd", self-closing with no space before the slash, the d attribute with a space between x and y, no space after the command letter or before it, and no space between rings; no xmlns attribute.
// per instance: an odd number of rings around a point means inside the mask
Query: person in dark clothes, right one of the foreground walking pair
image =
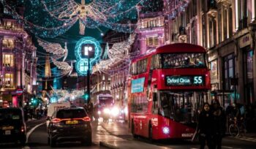
<svg viewBox="0 0 256 149"><path fill-rule="evenodd" d="M213 115L213 148L222 148L222 138L225 136L226 115L223 108L219 104L218 99L211 101L211 112Z"/></svg>

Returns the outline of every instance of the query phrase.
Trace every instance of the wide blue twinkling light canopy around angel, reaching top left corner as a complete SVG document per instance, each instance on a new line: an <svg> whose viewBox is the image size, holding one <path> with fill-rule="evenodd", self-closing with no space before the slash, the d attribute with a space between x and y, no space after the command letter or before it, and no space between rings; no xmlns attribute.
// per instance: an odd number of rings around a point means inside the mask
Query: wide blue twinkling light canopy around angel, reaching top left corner
<svg viewBox="0 0 256 149"><path fill-rule="evenodd" d="M18 0L22 1L22 0ZM124 20L137 18L138 4L148 0L29 0L23 2L27 7L25 15L15 12L17 5L8 4L7 0L1 0L11 14L26 24L26 28L39 37L56 37L64 34L78 20L80 34L84 34L85 28L98 28L105 26L115 31L129 32L130 25ZM21 3L21 2L20 2Z"/></svg>

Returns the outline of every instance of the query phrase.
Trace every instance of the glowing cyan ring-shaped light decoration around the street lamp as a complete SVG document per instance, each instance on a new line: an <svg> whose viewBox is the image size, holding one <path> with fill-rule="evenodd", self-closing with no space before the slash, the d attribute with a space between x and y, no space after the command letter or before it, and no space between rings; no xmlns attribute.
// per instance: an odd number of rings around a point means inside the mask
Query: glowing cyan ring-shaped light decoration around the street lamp
<svg viewBox="0 0 256 149"><path fill-rule="evenodd" d="M89 53L93 53L90 54ZM102 49L99 45L97 39L93 37L84 37L78 41L75 45L75 58L77 63L75 64L75 69L79 75L86 75L88 69L88 56L90 56L90 68L99 61Z"/></svg>

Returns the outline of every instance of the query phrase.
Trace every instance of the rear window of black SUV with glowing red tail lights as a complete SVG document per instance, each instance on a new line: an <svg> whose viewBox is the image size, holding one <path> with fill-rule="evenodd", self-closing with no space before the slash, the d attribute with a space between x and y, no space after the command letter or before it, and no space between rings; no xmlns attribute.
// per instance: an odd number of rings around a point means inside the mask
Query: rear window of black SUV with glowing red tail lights
<svg viewBox="0 0 256 149"><path fill-rule="evenodd" d="M86 111L83 109L59 110L56 114L56 118L84 118L86 116Z"/></svg>

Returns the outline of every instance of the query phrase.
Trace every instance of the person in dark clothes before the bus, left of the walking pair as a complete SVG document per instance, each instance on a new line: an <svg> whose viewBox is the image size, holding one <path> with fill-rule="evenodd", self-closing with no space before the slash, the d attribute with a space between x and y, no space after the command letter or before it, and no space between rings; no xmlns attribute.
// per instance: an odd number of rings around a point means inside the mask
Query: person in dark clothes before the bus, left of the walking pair
<svg viewBox="0 0 256 149"><path fill-rule="evenodd" d="M206 102L203 104L198 120L197 133L199 134L200 149L204 149L206 144L208 149L213 149L212 122L213 117L210 111L210 104Z"/></svg>

